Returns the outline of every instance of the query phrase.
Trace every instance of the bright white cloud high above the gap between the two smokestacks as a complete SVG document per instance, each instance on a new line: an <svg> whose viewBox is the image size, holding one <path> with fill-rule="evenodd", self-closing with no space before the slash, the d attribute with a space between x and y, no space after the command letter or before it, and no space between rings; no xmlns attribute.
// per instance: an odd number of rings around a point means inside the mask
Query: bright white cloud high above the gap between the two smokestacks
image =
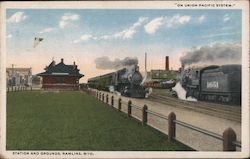
<svg viewBox="0 0 250 159"><path fill-rule="evenodd" d="M163 17L158 17L147 23L144 26L144 29L148 34L154 34L155 31L158 30L161 25L163 25Z"/></svg>

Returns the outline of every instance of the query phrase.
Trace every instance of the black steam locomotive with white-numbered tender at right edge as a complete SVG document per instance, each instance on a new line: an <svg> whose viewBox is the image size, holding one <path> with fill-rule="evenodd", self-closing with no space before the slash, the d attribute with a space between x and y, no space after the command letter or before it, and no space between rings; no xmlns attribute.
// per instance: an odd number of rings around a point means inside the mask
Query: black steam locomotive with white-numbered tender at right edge
<svg viewBox="0 0 250 159"><path fill-rule="evenodd" d="M187 97L241 104L241 65L212 65L185 70L181 77Z"/></svg>

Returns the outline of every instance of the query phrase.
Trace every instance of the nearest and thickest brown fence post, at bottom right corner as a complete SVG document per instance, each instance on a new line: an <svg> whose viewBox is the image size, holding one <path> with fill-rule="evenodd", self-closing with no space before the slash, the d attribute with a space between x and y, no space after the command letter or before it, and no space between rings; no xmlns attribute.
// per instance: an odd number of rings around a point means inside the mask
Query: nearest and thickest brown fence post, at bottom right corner
<svg viewBox="0 0 250 159"><path fill-rule="evenodd" d="M236 151L236 133L232 128L227 128L223 132L223 151Z"/></svg>

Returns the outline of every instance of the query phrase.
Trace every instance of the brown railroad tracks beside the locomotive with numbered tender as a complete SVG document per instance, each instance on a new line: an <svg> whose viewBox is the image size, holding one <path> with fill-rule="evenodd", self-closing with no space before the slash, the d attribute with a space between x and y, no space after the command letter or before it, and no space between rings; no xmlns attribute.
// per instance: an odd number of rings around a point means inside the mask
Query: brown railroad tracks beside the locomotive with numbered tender
<svg viewBox="0 0 250 159"><path fill-rule="evenodd" d="M241 122L241 107L222 105L217 103L208 103L203 101L190 102L174 98L168 94L153 93L148 98L151 101L166 104L168 106L178 107L182 109L188 109L212 115L236 122Z"/></svg>

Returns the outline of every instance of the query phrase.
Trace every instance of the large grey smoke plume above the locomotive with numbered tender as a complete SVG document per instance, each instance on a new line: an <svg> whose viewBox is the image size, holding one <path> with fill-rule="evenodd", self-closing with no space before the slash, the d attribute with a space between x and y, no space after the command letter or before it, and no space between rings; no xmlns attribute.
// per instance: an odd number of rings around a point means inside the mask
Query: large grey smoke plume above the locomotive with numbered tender
<svg viewBox="0 0 250 159"><path fill-rule="evenodd" d="M214 44L193 48L181 57L181 63L191 65L196 63L241 63L241 45L237 43Z"/></svg>

